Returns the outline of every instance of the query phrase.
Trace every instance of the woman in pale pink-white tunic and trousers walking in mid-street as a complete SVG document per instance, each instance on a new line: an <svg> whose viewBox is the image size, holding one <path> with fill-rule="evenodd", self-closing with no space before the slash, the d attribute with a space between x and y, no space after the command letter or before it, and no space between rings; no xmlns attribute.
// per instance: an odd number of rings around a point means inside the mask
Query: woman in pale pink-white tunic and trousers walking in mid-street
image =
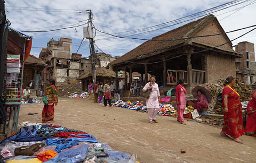
<svg viewBox="0 0 256 163"><path fill-rule="evenodd" d="M149 123L158 123L156 120L156 114L159 110L160 92L157 83L155 83L155 76L150 77L150 82L148 82L142 89L143 92L150 91L149 98L146 99L146 106L148 109L148 119Z"/></svg>

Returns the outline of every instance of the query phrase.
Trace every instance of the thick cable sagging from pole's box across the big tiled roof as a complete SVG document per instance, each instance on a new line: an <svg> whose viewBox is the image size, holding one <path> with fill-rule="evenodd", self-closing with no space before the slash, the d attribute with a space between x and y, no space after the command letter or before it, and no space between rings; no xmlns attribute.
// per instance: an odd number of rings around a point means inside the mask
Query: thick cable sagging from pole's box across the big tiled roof
<svg viewBox="0 0 256 163"><path fill-rule="evenodd" d="M106 34L108 34L110 36L114 36L114 37L118 37L118 38L124 38L124 39L136 39L136 40L146 40L146 41L178 41L178 40L186 40L186 39L191 39L191 38L218 36L218 35L223 35L223 34L227 34L227 33L231 33L231 32L236 32L236 31L239 31L239 30L244 30L244 29L252 28L252 27L256 27L256 24L255 25L251 25L249 27L245 27L245 28L240 28L240 29L236 29L236 30L233 30L233 31L229 31L229 32L217 33L217 34L214 34L214 35L193 36L193 37L185 37L185 38L170 39L170 40L157 40L157 39L142 39L142 38L133 38L133 37L121 37L121 36L116 36L116 35L112 35L112 34L107 33L107 32L100 31L98 29L95 29L95 30L97 30L97 31L99 31L101 33L106 33Z"/></svg>

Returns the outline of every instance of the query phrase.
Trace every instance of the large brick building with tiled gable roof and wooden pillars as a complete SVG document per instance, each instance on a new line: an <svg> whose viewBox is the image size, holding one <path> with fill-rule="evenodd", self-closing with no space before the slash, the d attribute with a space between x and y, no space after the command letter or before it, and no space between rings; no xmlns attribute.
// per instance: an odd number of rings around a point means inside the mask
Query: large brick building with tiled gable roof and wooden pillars
<svg viewBox="0 0 256 163"><path fill-rule="evenodd" d="M145 74L145 79L148 73L155 75L158 85L164 86L162 92L175 87L183 78L190 93L195 85L216 83L226 76L236 75L235 61L242 55L233 50L226 34L195 38L223 32L217 18L210 14L144 42L109 65L116 73L120 70L130 74L138 72L141 76ZM158 63L146 64L153 62ZM129 81L131 83L132 78Z"/></svg>

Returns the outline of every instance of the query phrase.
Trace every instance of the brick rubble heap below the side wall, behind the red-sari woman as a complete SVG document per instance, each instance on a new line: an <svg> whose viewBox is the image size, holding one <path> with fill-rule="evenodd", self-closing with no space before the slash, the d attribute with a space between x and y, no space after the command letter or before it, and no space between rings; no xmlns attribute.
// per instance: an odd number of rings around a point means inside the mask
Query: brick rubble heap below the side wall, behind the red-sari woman
<svg viewBox="0 0 256 163"><path fill-rule="evenodd" d="M218 94L222 92L225 86L224 82L225 80L219 80L215 84L207 83L207 84L200 85L210 90L211 92L212 102L209 106L210 114L223 114L222 104L219 101L217 101L216 98ZM234 88L239 93L241 102L250 100L251 92L252 92L252 88L250 87L250 85L247 85L246 88L244 89L244 83L236 79Z"/></svg>

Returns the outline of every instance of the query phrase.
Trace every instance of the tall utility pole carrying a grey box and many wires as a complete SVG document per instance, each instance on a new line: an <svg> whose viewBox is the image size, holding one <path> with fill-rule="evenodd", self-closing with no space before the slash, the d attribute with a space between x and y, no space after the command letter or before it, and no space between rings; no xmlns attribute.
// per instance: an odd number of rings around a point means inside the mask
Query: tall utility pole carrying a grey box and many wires
<svg viewBox="0 0 256 163"><path fill-rule="evenodd" d="M89 10L89 22L91 27L92 25L92 11ZM91 71L92 71L92 82L95 85L96 83L96 67L95 67L95 50L94 50L94 42L93 38L90 38L90 53L91 53Z"/></svg>

